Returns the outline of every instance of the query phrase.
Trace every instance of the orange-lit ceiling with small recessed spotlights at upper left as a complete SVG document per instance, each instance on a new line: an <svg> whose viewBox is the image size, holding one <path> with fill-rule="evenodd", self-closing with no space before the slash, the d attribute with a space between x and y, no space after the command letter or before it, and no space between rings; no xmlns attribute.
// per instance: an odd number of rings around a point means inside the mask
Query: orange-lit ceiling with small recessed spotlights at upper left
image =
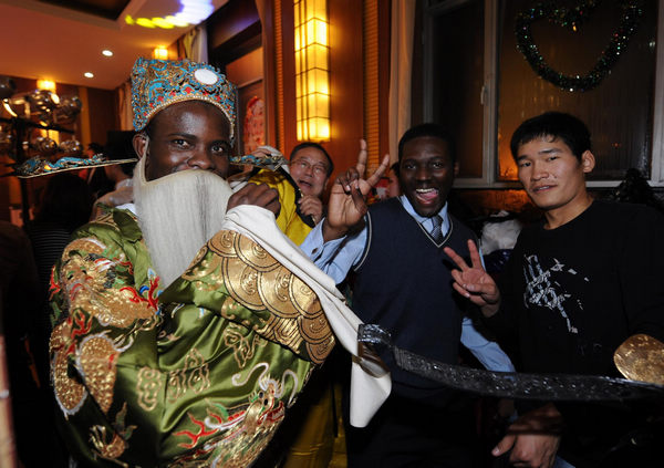
<svg viewBox="0 0 664 468"><path fill-rule="evenodd" d="M137 56L152 56L156 46L170 45L194 27L145 28L137 20L154 25L152 20L168 15L207 18L227 1L0 0L0 75L113 90L129 76ZM102 55L105 49L113 56Z"/></svg>

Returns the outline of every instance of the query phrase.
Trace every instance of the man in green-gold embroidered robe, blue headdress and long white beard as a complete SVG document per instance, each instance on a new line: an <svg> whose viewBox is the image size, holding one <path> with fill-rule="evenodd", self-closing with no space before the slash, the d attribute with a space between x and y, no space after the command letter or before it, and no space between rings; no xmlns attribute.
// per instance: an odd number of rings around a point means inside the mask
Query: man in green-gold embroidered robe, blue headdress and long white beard
<svg viewBox="0 0 664 468"><path fill-rule="evenodd" d="M286 186L226 181L226 77L138 59L132 87L134 204L76 231L51 281L61 431L82 466L247 467L332 350L332 329L356 352L359 321L277 227L294 212ZM372 372L382 396L361 392L361 424L390 391Z"/></svg>

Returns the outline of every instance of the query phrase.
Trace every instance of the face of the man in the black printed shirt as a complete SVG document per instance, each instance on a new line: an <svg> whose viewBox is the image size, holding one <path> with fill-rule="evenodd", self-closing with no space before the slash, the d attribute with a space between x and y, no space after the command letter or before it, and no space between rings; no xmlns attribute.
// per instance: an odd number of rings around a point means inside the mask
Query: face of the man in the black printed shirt
<svg viewBox="0 0 664 468"><path fill-rule="evenodd" d="M585 174L594 167L594 156L583 152L579 159L559 138L540 137L519 145L519 180L535 205L551 215L572 219L590 204Z"/></svg>

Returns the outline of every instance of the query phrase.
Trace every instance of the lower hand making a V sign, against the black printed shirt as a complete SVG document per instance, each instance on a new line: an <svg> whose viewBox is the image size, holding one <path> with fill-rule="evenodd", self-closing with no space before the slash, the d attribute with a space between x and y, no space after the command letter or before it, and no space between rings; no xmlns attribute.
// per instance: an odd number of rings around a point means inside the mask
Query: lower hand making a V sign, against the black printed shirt
<svg viewBox="0 0 664 468"><path fill-rule="evenodd" d="M446 247L444 251L459 268L452 271L452 278L455 281L453 283L454 289L474 304L479 305L485 316L491 316L498 312L500 291L491 275L481 266L479 251L475 242L468 240L470 267L454 249Z"/></svg>

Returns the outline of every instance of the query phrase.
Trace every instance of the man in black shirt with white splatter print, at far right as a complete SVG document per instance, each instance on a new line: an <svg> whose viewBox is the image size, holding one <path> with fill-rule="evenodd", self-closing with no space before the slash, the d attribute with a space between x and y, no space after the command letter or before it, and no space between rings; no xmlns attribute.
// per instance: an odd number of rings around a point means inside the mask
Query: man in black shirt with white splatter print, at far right
<svg viewBox="0 0 664 468"><path fill-rule="evenodd" d="M500 288L473 242L471 266L446 249L459 267L454 288L494 330L516 333L520 371L618 376L612 358L622 342L642 333L664 339L664 217L593 200L590 133L569 114L523 122L510 147L543 223L523 229ZM656 406L522 403L492 453L511 450L518 467L662 466Z"/></svg>

